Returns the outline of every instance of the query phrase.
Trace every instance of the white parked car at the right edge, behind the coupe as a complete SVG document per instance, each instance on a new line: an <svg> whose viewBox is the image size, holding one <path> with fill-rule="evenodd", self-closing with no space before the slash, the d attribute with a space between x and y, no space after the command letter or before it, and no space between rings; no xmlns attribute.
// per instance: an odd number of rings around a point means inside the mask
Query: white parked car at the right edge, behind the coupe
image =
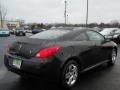
<svg viewBox="0 0 120 90"><path fill-rule="evenodd" d="M120 43L120 29L119 28L107 28L100 32L105 38L108 38L116 43Z"/></svg>

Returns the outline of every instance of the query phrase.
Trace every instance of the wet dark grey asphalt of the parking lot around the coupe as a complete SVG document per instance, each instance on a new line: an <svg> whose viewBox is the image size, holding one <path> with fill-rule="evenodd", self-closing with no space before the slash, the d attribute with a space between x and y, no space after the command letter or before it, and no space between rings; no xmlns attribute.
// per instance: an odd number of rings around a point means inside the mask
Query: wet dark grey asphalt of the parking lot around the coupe
<svg viewBox="0 0 120 90"><path fill-rule="evenodd" d="M26 37L30 36L27 34ZM63 90L59 83L44 79L21 79L8 71L4 66L6 47L26 37L0 37L0 90ZM120 90L120 48L117 63L113 67L106 64L81 75L79 82L72 90Z"/></svg>

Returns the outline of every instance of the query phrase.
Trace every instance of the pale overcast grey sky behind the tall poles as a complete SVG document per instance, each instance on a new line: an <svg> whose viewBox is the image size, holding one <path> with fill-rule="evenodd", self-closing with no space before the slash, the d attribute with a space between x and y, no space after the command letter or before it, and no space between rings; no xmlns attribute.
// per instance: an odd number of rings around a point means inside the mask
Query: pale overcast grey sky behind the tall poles
<svg viewBox="0 0 120 90"><path fill-rule="evenodd" d="M8 19L26 22L64 22L64 0L1 0ZM85 23L87 0L68 0L69 23ZM89 0L89 23L120 21L120 0Z"/></svg>

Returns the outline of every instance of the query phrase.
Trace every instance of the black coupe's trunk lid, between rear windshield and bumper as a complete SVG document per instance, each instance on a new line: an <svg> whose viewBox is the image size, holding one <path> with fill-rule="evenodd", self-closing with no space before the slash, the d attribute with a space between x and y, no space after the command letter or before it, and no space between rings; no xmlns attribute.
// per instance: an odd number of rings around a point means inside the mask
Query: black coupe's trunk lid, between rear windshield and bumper
<svg viewBox="0 0 120 90"><path fill-rule="evenodd" d="M26 39L17 41L12 44L9 49L9 53L13 55L17 55L24 58L31 58L36 55L36 53L42 49L43 47L47 47L47 40L40 39Z"/></svg>

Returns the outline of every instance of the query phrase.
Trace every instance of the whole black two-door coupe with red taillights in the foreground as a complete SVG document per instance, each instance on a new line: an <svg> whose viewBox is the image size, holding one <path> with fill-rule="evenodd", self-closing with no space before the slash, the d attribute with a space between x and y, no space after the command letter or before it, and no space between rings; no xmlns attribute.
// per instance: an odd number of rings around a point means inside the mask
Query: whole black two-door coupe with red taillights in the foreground
<svg viewBox="0 0 120 90"><path fill-rule="evenodd" d="M9 45L8 70L20 76L58 79L73 87L81 73L103 63L114 65L117 45L90 29L47 30Z"/></svg>

